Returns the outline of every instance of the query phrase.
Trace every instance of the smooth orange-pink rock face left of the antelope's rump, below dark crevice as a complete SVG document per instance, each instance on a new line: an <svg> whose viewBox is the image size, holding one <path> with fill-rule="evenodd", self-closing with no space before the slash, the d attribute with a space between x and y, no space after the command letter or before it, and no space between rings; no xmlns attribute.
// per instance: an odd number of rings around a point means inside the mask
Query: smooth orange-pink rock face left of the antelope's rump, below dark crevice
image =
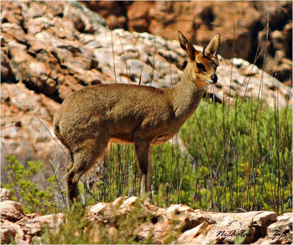
<svg viewBox="0 0 293 245"><path fill-rule="evenodd" d="M49 161L55 145L57 159L67 161L50 135L54 135L52 117L58 108L59 103L36 94L23 83L1 83L1 166L6 162L5 155L16 155L21 163L32 159Z"/></svg>

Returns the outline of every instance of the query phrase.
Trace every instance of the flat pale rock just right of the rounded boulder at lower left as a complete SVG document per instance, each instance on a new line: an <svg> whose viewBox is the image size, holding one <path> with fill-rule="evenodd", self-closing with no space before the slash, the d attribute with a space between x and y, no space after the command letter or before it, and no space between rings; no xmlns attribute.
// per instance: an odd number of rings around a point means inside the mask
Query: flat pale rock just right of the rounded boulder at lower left
<svg viewBox="0 0 293 245"><path fill-rule="evenodd" d="M62 222L64 222L64 215L62 213L56 215L44 215L28 220L28 222L25 225L25 229L27 230L27 233L29 235L35 235L41 231L44 225L48 225L49 228L54 229L56 231L56 229Z"/></svg>

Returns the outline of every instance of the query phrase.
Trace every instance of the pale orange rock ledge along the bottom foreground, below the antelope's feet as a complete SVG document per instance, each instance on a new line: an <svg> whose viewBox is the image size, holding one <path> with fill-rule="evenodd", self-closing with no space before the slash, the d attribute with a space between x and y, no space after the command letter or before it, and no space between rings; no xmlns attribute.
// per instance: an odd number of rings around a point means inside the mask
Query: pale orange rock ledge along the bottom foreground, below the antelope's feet
<svg viewBox="0 0 293 245"><path fill-rule="evenodd" d="M40 244L43 227L57 232L62 222L66 221L66 215L62 213L39 217L36 214L25 215L20 220L17 214L8 217L2 215L2 206L7 207L5 202L1 202L1 243L9 242L13 237L18 244ZM18 210L21 210L21 206ZM208 213L182 204L158 208L138 197L120 197L112 203L97 203L87 207L87 220L94 223L91 230L93 243L99 243L100 239L95 227L108 225L108 234L115 241L122 235L117 229L118 222L127 220L137 211L137 220L142 222L134 229L127 230L136 237L136 241L144 241L151 236L152 242L158 244L234 244L235 239L241 244L292 243L292 213L280 216L267 211Z"/></svg>

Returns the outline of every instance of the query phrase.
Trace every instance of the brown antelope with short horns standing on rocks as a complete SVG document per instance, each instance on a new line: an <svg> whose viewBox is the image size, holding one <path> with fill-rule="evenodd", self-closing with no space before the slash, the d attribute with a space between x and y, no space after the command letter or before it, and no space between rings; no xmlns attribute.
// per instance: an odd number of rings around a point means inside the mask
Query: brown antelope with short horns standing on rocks
<svg viewBox="0 0 293 245"><path fill-rule="evenodd" d="M207 84L217 82L220 34L198 51L179 31L189 61L171 89L137 84L98 84L73 92L54 114L57 138L69 150L65 180L70 207L78 199L78 181L103 154L108 142L134 144L139 164L139 192L151 191L154 145L172 139L193 114Z"/></svg>

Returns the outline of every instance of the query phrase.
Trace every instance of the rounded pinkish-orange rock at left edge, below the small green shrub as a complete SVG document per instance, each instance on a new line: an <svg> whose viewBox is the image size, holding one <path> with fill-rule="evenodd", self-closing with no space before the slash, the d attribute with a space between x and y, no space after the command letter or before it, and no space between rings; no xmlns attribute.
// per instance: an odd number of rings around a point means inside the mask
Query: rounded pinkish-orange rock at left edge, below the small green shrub
<svg viewBox="0 0 293 245"><path fill-rule="evenodd" d="M25 216L21 204L15 201L1 201L1 218L9 221L20 220Z"/></svg>

